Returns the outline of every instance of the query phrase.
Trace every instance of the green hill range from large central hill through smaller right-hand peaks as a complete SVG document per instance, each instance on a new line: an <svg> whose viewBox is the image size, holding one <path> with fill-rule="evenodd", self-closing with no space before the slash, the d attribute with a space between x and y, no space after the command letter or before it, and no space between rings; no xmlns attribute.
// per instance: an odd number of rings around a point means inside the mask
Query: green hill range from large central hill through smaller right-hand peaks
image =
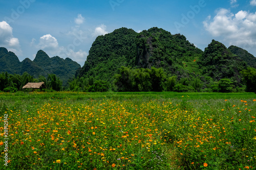
<svg viewBox="0 0 256 170"><path fill-rule="evenodd" d="M168 76L182 78L210 77L213 81L231 79L241 85L240 71L253 66L256 58L242 48L227 48L212 40L203 52L180 34L157 27L136 33L120 28L93 42L79 77L112 82L121 66L163 68ZM203 80L203 79L202 79Z"/></svg>

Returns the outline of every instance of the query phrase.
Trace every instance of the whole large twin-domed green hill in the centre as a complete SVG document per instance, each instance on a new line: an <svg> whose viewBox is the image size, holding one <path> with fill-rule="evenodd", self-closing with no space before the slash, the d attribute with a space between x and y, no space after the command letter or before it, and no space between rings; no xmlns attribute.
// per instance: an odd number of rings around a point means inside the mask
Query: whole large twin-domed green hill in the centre
<svg viewBox="0 0 256 170"><path fill-rule="evenodd" d="M79 77L112 81L121 66L134 68L163 67L169 74L188 75L184 62L193 62L202 51L180 34L158 28L136 33L120 28L98 36L89 51Z"/></svg>

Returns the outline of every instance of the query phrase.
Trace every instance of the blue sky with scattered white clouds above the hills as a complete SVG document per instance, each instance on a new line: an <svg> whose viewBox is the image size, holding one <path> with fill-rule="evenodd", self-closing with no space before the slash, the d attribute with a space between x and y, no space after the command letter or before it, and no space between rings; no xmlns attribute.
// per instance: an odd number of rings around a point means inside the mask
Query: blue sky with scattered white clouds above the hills
<svg viewBox="0 0 256 170"><path fill-rule="evenodd" d="M96 37L121 27L180 33L201 50L215 39L256 56L256 0L0 0L0 46L20 61L44 50L83 66Z"/></svg>

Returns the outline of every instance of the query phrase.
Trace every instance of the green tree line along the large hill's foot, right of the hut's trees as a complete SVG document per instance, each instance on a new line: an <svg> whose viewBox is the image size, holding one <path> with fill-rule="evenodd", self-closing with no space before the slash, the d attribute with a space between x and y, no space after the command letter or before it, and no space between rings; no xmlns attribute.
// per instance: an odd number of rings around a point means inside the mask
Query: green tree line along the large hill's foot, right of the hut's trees
<svg viewBox="0 0 256 170"><path fill-rule="evenodd" d="M167 75L163 68L131 68L121 66L112 83L93 77L77 77L69 81L71 91L175 91L175 92L256 92L256 69L248 67L240 72L241 86L230 78L219 81L207 76L177 77Z"/></svg>

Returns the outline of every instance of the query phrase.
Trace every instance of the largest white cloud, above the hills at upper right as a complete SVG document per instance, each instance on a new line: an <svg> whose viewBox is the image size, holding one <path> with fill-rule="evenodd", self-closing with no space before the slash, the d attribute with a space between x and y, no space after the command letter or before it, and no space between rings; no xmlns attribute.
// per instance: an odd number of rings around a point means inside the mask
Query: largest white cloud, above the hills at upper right
<svg viewBox="0 0 256 170"><path fill-rule="evenodd" d="M252 48L256 45L256 12L239 11L236 14L219 9L216 16L203 22L204 28L214 37L223 37L229 45Z"/></svg>

